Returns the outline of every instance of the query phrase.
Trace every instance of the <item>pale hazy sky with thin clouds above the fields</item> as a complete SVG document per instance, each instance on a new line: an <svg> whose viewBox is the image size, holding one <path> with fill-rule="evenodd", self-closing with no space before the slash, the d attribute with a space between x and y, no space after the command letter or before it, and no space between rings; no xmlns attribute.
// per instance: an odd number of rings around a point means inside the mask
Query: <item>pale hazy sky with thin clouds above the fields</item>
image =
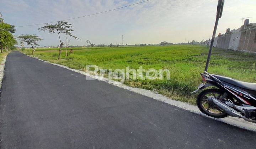
<svg viewBox="0 0 256 149"><path fill-rule="evenodd" d="M23 26L65 20L115 9L142 0L1 0L0 12L6 23ZM68 21L74 25L74 35L82 40L71 40L71 45L92 43L124 44L161 41L181 43L211 38L218 0L150 0L95 16ZM226 0L218 32L239 28L242 17L256 22L256 0ZM15 35L42 36L41 46L59 45L58 35L37 31L39 26L16 28Z"/></svg>

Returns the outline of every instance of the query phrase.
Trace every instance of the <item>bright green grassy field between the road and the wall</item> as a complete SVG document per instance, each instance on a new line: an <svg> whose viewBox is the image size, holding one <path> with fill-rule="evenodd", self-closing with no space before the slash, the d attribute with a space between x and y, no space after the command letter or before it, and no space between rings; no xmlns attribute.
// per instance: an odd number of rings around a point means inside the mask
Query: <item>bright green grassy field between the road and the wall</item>
<svg viewBox="0 0 256 149"><path fill-rule="evenodd" d="M36 49L34 56L79 70L86 65L97 65L106 69L169 69L170 80L126 80L131 87L155 89L158 93L175 100L195 104L195 95L190 94L201 82L208 54L207 46L142 46L122 48L72 48L74 53L65 57L63 48L58 60L58 49ZM48 50L48 51L46 51ZM31 50L24 53L30 55ZM256 83L256 56L238 51L213 49L208 72Z"/></svg>

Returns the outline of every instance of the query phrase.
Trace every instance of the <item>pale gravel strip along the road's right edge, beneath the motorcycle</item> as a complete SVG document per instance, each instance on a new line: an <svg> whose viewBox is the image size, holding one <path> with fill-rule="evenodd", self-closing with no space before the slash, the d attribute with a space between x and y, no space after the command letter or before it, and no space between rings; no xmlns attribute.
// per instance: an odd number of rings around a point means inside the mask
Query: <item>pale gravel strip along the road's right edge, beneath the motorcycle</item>
<svg viewBox="0 0 256 149"><path fill-rule="evenodd" d="M24 55L26 55L26 54L24 54ZM85 75L85 76L97 79L99 81L107 82L107 83L112 84L114 86L130 90L130 91L132 91L134 93L138 93L140 95L144 95L144 96L147 96L149 98L153 98L153 99L161 101L163 103L167 103L167 104L179 107L181 109L193 112L195 114L202 115L204 117L212 118L214 120L217 120L217 121L220 121L220 122L224 122L224 123L227 123L229 125L233 125L233 126L236 126L236 127L239 127L239 128L243 128L243 129L247 129L249 131L256 132L256 124L244 121L242 118L225 117L225 118L217 119L217 118L209 117L209 116L203 114L197 108L197 106L194 106L194 105L191 105L191 104L188 104L188 103L184 103L182 101L172 100L172 99L170 99L170 98L168 98L168 97L166 97L164 95L158 94L157 92L154 92L154 91L151 91L151 90L142 89L142 88L129 87L129 86L127 86L127 85L125 85L125 84L123 84L121 82L113 81L113 80L110 80L110 79L107 79L107 78L103 78L103 77L100 77L100 76L94 76L94 75L91 75L91 74L89 74L87 72L84 72L82 70L76 70L76 69L70 68L68 66L64 66L64 65L60 65L60 64L55 64L55 63L52 63L52 62L44 61L42 59L39 59L36 56L30 56L30 55L27 55L27 56L32 57L32 58L37 59L37 60L40 60L40 61L43 61L43 62L47 62L47 63L52 64L52 65L56 65L56 66L59 66L59 67L62 67L62 68L66 68L68 70L71 70L71 71L80 73L82 75Z"/></svg>

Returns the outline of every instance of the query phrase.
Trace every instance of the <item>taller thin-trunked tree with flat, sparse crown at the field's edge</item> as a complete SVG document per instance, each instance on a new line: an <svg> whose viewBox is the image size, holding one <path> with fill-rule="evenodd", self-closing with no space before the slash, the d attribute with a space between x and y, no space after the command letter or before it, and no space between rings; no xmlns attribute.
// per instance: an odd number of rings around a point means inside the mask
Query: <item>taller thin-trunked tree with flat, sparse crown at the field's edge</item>
<svg viewBox="0 0 256 149"><path fill-rule="evenodd" d="M55 33L57 32L59 35L59 40L60 40L60 48L59 48L59 55L58 55L58 59L60 59L60 53L62 50L62 46L64 45L64 43L62 42L62 40L60 39L60 34L66 34L69 35L70 37L73 37L75 39L79 39L77 37L75 37L72 32L74 31L73 29L73 25L69 24L68 22L63 22L63 21L58 21L57 24L53 25L53 24L48 24L46 23L45 26L39 28L39 30L41 31L48 31L49 33Z"/></svg>

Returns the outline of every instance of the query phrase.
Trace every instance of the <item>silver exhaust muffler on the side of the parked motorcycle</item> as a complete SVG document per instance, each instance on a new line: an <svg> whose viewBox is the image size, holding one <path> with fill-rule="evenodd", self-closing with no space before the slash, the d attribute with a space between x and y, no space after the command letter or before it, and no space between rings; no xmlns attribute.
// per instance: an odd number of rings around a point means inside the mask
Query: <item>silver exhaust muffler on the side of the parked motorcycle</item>
<svg viewBox="0 0 256 149"><path fill-rule="evenodd" d="M223 110L224 112L226 112L226 114L229 114L230 116L245 118L239 112L237 112L235 109L233 109L233 108L229 107L228 105L220 102L218 99L216 99L214 97L209 97L208 101L209 101L209 103L212 103L213 105L217 106L220 110Z"/></svg>

